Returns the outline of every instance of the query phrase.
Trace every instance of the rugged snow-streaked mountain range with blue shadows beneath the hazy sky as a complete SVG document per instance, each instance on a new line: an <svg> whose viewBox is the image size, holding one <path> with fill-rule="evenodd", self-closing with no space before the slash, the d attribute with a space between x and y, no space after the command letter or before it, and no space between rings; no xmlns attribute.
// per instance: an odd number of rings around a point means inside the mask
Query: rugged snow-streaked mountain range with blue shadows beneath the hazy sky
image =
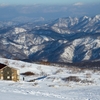
<svg viewBox="0 0 100 100"><path fill-rule="evenodd" d="M24 61L100 59L100 15L50 22L0 22L0 56Z"/></svg>

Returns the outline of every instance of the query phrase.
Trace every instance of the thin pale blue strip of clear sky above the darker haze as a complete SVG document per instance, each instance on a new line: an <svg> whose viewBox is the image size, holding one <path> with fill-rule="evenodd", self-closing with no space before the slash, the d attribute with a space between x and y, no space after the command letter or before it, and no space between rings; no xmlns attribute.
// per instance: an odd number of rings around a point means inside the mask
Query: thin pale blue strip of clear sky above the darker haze
<svg viewBox="0 0 100 100"><path fill-rule="evenodd" d="M0 0L0 4L72 4L76 2L82 3L98 3L100 0Z"/></svg>

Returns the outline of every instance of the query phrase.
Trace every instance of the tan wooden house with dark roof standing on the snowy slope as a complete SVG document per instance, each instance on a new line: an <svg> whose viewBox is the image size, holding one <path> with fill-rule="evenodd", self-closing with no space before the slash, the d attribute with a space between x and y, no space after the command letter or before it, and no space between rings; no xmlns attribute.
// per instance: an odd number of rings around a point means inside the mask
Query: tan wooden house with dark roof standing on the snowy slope
<svg viewBox="0 0 100 100"><path fill-rule="evenodd" d="M0 79L19 81L19 70L0 63Z"/></svg>

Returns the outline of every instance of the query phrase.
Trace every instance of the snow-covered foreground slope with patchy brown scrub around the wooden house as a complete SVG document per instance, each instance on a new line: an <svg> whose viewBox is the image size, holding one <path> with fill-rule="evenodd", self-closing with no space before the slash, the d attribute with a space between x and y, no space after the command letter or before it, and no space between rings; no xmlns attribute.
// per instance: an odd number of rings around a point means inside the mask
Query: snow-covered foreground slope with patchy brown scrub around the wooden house
<svg viewBox="0 0 100 100"><path fill-rule="evenodd" d="M100 71L61 68L0 58L0 63L18 68L19 82L0 80L0 100L100 100ZM76 76L79 80L66 80ZM23 77L25 80L23 81ZM28 82L28 81L33 82Z"/></svg>

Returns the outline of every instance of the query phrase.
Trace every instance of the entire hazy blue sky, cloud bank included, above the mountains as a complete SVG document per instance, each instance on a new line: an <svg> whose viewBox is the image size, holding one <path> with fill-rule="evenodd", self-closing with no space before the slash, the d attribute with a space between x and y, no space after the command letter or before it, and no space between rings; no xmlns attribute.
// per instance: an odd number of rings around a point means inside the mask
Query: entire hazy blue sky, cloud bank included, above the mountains
<svg viewBox="0 0 100 100"><path fill-rule="evenodd" d="M0 20L48 20L97 14L100 0L0 0Z"/></svg>

